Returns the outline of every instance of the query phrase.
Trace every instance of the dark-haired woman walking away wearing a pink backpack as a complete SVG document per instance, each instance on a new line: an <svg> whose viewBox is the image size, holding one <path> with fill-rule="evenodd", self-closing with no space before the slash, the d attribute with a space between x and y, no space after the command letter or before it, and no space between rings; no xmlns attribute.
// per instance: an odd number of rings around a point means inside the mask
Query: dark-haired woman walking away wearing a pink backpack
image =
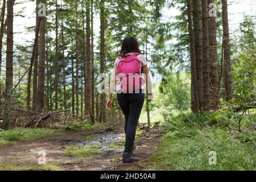
<svg viewBox="0 0 256 182"><path fill-rule="evenodd" d="M144 103L143 76L147 82L148 98L152 100L151 79L148 74L147 60L139 50L135 38L127 36L122 43L121 52L114 63L114 71L110 82L109 99L106 107L110 109L113 104L115 78L118 77L117 101L125 115L125 150L123 163L138 162L139 158L133 155L134 139L139 115Z"/></svg>

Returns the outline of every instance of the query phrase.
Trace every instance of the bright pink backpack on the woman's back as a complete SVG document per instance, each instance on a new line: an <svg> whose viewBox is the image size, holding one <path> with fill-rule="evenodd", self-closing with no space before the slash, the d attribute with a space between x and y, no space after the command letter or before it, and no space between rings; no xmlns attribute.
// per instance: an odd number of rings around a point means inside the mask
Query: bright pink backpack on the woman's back
<svg viewBox="0 0 256 182"><path fill-rule="evenodd" d="M130 93L142 86L141 61L139 53L123 57L118 63L118 76L123 93Z"/></svg>

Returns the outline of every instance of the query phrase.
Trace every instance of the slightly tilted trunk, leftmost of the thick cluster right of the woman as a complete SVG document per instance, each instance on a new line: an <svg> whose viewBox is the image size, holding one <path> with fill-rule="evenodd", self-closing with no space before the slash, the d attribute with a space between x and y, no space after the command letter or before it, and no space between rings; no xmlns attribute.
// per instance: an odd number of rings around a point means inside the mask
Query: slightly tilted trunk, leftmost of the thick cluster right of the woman
<svg viewBox="0 0 256 182"><path fill-rule="evenodd" d="M191 0L187 2L187 15L188 15L188 32L189 32L189 49L191 59L191 110L194 113L199 112L198 94L197 94L197 81L196 81L196 60L195 60L195 48L194 37L192 28L192 13L191 13Z"/></svg>

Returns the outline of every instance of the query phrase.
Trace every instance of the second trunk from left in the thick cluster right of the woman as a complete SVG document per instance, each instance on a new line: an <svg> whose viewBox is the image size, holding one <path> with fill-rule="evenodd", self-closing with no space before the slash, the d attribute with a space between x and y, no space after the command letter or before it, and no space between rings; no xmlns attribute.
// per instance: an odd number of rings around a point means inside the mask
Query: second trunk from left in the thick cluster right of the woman
<svg viewBox="0 0 256 182"><path fill-rule="evenodd" d="M202 64L202 21L200 0L193 1L193 36L196 60L197 95L199 110L203 109L203 64Z"/></svg>

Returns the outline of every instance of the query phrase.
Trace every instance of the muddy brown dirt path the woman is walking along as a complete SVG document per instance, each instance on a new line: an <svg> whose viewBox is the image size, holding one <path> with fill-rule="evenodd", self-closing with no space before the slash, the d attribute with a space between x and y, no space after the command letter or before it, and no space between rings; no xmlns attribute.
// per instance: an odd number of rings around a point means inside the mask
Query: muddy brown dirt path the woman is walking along
<svg viewBox="0 0 256 182"><path fill-rule="evenodd" d="M39 153L46 154L46 164L64 170L143 170L162 138L162 129L137 131L134 154L141 158L135 164L122 164L125 135L114 127L77 131L39 140L19 142L0 148L0 170L44 169L38 165ZM15 168L14 168L15 169Z"/></svg>

